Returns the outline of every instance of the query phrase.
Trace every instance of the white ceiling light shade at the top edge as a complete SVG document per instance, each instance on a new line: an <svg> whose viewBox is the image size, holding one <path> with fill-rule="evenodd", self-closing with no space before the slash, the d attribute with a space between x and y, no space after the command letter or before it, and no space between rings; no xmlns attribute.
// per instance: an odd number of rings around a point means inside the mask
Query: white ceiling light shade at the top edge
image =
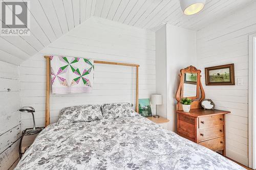
<svg viewBox="0 0 256 170"><path fill-rule="evenodd" d="M180 0L180 7L185 15L193 15L204 8L206 0Z"/></svg>

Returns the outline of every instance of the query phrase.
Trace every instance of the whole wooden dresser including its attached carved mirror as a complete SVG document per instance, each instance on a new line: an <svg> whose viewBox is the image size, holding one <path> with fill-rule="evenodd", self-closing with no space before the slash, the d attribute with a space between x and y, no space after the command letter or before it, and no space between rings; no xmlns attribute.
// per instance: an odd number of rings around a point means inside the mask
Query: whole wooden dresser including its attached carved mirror
<svg viewBox="0 0 256 170"><path fill-rule="evenodd" d="M201 70L190 65L180 70L180 84L176 93L178 134L213 151L222 150L225 156L225 114L229 111L204 110L205 98L201 82ZM192 79L193 77L193 79ZM190 111L184 112L181 99L194 100Z"/></svg>

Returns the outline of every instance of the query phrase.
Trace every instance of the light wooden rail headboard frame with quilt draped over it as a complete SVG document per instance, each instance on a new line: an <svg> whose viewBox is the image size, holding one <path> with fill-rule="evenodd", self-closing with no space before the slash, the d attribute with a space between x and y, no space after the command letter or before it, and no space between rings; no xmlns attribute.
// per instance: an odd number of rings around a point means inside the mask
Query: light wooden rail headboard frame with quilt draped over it
<svg viewBox="0 0 256 170"><path fill-rule="evenodd" d="M46 121L45 127L50 124L50 56L45 56L46 58ZM130 67L136 67L136 105L135 111L139 112L139 66L138 64L130 64L130 63L117 63L117 62L109 62L109 61L97 61L94 60L94 63L97 64L112 64L112 65L124 65Z"/></svg>

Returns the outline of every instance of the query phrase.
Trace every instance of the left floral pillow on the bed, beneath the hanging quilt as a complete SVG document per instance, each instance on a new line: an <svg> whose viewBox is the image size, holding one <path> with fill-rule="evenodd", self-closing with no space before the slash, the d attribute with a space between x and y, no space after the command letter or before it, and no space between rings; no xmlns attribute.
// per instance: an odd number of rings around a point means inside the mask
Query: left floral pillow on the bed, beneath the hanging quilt
<svg viewBox="0 0 256 170"><path fill-rule="evenodd" d="M92 122L102 119L100 105L81 105L66 107L60 110L58 124L75 122Z"/></svg>

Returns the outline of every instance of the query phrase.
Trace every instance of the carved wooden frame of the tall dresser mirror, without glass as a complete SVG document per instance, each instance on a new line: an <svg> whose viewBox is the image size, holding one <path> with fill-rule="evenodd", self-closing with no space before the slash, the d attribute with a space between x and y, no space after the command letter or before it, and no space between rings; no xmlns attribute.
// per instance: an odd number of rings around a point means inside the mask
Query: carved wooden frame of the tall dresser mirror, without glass
<svg viewBox="0 0 256 170"><path fill-rule="evenodd" d="M197 69L196 67L190 65L184 69L180 70L180 84L178 90L176 92L176 100L177 100L177 110L182 110L182 105L180 103L181 99L183 98L183 90L184 90L184 79L185 73L194 73L197 74L197 95L193 97L187 97L188 99L193 99L194 102L191 104L191 109L198 109L202 108L201 101L205 98L204 89L201 83L201 70ZM201 90L201 98L200 98L200 91ZM199 99L200 98L200 99Z"/></svg>

